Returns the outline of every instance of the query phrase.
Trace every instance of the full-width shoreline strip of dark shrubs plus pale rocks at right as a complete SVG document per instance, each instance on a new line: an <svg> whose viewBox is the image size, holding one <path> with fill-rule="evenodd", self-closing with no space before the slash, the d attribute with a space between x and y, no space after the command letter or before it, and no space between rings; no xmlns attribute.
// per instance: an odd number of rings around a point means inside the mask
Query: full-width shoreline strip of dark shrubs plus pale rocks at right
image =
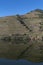
<svg viewBox="0 0 43 65"><path fill-rule="evenodd" d="M28 34L12 34L11 36L4 36L1 38L3 41L12 42L12 43L29 43L30 41L43 41L43 36L30 37Z"/></svg>

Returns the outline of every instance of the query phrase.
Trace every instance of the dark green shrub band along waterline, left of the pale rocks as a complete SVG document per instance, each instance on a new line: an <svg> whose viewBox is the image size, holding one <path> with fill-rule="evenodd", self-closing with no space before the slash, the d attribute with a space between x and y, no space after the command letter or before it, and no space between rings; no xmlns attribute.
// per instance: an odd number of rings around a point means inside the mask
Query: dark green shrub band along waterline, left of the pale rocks
<svg viewBox="0 0 43 65"><path fill-rule="evenodd" d="M12 42L12 43L27 43L31 38L27 35L22 34L12 34L11 36L4 36L1 38L3 41Z"/></svg>

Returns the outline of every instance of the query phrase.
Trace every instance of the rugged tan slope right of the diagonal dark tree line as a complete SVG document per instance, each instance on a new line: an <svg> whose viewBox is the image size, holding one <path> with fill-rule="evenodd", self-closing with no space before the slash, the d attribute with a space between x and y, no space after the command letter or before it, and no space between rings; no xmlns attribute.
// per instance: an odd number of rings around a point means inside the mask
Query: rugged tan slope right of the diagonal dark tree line
<svg viewBox="0 0 43 65"><path fill-rule="evenodd" d="M43 10L36 9L30 13L22 15L22 18L24 18L25 20L25 24L28 26L30 30L33 31L32 35L34 34L39 35L39 36L43 35L43 27L41 27L42 24L40 24L43 22L43 12L42 11Z"/></svg>

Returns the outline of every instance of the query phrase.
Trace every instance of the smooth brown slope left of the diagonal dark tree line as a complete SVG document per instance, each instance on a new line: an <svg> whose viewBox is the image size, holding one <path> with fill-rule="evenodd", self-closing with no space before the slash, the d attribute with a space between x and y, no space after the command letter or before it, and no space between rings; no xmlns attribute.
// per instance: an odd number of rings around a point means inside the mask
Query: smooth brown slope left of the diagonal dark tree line
<svg viewBox="0 0 43 65"><path fill-rule="evenodd" d="M16 16L3 17L0 19L0 35L9 35L14 33L28 33L28 30L22 26Z"/></svg>

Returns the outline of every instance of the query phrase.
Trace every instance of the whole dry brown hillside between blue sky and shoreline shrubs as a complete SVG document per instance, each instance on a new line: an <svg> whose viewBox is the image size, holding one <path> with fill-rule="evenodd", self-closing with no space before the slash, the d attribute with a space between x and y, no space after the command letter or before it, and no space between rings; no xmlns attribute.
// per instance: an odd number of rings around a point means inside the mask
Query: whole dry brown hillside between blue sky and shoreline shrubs
<svg viewBox="0 0 43 65"><path fill-rule="evenodd" d="M43 10L33 10L30 13L21 15L20 18L19 20L18 16L0 18L0 35L14 33L33 33L32 35L40 35L41 33L41 36L43 35L43 31L41 31L43 26L41 27L40 24L43 21ZM41 30L40 27L42 28Z"/></svg>

